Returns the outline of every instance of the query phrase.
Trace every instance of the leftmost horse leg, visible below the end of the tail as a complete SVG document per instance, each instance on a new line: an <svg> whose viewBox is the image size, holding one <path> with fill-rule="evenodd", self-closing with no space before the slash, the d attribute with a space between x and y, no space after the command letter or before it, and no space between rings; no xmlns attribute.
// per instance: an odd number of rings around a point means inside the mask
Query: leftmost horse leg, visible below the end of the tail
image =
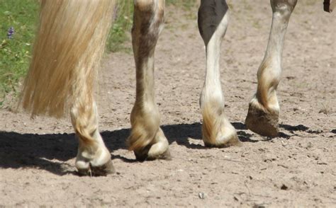
<svg viewBox="0 0 336 208"><path fill-rule="evenodd" d="M110 151L98 129L98 112L90 91L82 89L70 110L72 126L79 141L76 168L81 174L106 175L113 173Z"/></svg>

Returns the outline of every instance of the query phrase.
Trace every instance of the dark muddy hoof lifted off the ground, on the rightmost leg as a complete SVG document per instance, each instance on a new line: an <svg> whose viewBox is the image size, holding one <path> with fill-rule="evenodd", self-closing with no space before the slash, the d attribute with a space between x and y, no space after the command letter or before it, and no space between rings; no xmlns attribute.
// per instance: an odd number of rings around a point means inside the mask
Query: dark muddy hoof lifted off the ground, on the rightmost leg
<svg viewBox="0 0 336 208"><path fill-rule="evenodd" d="M247 112L245 120L247 129L250 129L252 132L260 134L264 137L277 137L279 134L278 122L278 111L269 112L258 108L253 103L250 103L249 111Z"/></svg>

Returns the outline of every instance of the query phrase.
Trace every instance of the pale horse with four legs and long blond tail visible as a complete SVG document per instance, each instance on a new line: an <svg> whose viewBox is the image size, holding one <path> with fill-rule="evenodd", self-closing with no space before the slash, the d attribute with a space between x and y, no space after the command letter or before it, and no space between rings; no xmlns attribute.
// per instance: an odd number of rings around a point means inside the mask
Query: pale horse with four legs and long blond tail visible
<svg viewBox="0 0 336 208"><path fill-rule="evenodd" d="M268 45L245 120L248 129L264 137L276 137L279 133L276 91L286 28L296 2L270 0L272 21ZM110 151L99 134L94 83L116 1L42 0L40 4L40 24L20 103L32 116L62 117L69 113L79 141L75 162L78 172L83 175L113 173ZM325 10L332 10L330 4L325 4ZM220 45L228 27L228 16L225 0L201 0L198 29L206 47L206 78L200 106L202 139L208 147L241 145L235 127L225 114L220 86ZM159 127L154 91L155 46L163 25L164 0L134 0L131 36L136 97L130 113L127 144L139 161L171 159L169 143Z"/></svg>

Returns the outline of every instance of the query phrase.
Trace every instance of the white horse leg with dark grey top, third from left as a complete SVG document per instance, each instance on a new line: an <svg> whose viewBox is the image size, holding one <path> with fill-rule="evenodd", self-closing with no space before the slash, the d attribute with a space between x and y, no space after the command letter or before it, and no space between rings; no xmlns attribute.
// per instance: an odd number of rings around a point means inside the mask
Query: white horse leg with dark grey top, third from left
<svg viewBox="0 0 336 208"><path fill-rule="evenodd" d="M224 113L220 86L220 45L228 26L225 0L202 0L198 9L198 29L206 45L206 79L201 93L202 134L206 146L239 144L237 132Z"/></svg>

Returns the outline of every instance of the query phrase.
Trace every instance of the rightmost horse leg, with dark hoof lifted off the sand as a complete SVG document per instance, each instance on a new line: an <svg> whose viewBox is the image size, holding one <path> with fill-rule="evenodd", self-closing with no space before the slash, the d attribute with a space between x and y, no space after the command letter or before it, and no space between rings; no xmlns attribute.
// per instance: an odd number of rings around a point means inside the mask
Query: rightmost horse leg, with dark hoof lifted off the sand
<svg viewBox="0 0 336 208"><path fill-rule="evenodd" d="M273 18L264 60L259 67L257 93L250 101L245 120L248 129L267 137L278 135L279 103L276 88L281 75L281 57L291 13L297 0L271 0Z"/></svg>

